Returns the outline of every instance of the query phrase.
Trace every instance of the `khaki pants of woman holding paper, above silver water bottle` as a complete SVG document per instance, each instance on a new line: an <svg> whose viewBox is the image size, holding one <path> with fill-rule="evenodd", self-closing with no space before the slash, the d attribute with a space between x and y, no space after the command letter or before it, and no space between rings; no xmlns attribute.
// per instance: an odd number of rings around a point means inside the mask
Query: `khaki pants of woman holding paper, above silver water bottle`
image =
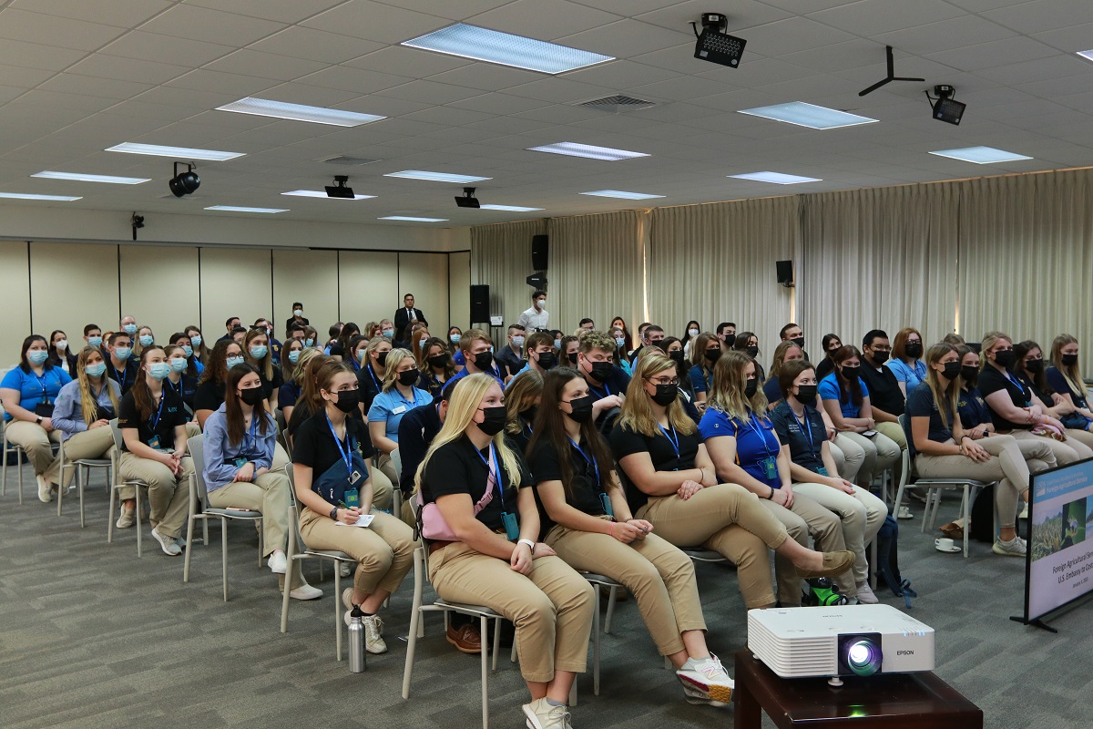
<svg viewBox="0 0 1093 729"><path fill-rule="evenodd" d="M389 514L372 514L371 527L339 527L326 514L304 508L299 533L313 550L340 550L356 560L353 587L360 592L395 592L413 567L413 530Z"/></svg>

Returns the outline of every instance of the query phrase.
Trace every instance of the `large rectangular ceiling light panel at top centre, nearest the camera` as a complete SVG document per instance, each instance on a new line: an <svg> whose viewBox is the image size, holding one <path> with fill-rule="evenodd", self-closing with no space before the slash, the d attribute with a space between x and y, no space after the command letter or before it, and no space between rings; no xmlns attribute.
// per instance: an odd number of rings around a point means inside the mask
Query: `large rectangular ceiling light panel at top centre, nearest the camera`
<svg viewBox="0 0 1093 729"><path fill-rule="evenodd" d="M614 60L612 56L466 23L449 25L401 45L542 73L564 73Z"/></svg>

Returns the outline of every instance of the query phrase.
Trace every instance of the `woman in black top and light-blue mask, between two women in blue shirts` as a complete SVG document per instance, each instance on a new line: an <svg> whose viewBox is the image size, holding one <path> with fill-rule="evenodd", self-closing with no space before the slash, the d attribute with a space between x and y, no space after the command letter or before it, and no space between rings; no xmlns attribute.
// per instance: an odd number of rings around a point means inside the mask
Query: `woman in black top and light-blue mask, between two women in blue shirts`
<svg viewBox="0 0 1093 729"><path fill-rule="evenodd" d="M133 387L118 404L124 442L118 475L148 484L152 537L164 553L181 554L180 537L189 510L188 479L193 462L186 455L186 405L164 385L171 365L162 348L145 346Z"/></svg>

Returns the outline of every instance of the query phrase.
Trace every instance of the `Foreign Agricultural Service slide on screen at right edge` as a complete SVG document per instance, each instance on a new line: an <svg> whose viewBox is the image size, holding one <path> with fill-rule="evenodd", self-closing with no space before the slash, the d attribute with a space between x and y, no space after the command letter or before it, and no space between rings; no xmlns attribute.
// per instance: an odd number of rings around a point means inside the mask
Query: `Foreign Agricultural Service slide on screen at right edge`
<svg viewBox="0 0 1093 729"><path fill-rule="evenodd" d="M1035 474L1032 502L1029 620L1093 589L1093 460Z"/></svg>

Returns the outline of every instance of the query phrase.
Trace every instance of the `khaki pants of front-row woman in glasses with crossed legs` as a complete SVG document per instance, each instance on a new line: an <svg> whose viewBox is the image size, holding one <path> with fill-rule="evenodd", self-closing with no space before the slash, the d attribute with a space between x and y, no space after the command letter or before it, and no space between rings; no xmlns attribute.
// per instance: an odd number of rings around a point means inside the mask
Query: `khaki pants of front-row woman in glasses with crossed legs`
<svg viewBox="0 0 1093 729"><path fill-rule="evenodd" d="M767 548L780 546L786 529L743 486L719 483L686 501L675 494L653 496L634 516L651 521L660 538L675 546L702 546L730 560L749 609L774 604Z"/></svg>

